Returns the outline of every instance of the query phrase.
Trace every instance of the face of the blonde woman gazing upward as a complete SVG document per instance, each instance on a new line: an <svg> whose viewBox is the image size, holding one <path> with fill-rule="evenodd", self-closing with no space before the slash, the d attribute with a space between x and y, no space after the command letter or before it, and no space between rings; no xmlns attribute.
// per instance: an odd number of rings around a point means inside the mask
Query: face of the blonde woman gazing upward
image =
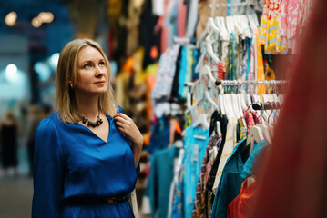
<svg viewBox="0 0 327 218"><path fill-rule="evenodd" d="M104 94L107 92L108 73L105 58L91 46L77 54L76 94Z"/></svg>

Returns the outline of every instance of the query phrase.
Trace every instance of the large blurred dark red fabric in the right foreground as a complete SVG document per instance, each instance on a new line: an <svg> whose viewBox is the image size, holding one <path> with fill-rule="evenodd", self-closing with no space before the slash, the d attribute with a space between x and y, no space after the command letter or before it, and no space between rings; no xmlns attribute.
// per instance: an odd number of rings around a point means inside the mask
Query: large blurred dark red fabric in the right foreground
<svg viewBox="0 0 327 218"><path fill-rule="evenodd" d="M257 176L255 218L327 217L327 1L313 3L294 65L284 66L291 80Z"/></svg>

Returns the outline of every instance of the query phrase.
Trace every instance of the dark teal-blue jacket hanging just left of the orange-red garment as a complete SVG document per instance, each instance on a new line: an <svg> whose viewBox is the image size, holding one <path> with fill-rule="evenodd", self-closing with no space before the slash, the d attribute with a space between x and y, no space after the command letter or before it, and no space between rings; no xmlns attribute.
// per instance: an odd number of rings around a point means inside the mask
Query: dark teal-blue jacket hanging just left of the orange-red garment
<svg viewBox="0 0 327 218"><path fill-rule="evenodd" d="M233 149L230 158L222 171L215 200L212 204L211 218L226 218L230 202L240 194L244 179L240 173L250 154L250 146L246 146L246 139L240 141Z"/></svg>

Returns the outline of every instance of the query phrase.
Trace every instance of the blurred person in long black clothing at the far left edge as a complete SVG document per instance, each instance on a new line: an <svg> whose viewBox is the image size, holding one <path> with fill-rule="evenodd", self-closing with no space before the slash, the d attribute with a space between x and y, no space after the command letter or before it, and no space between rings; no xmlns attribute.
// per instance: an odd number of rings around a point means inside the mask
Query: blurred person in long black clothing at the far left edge
<svg viewBox="0 0 327 218"><path fill-rule="evenodd" d="M1 163L4 170L4 175L10 167L14 167L17 174L17 132L18 124L15 120L15 114L9 110L5 114L4 120L0 123L0 138L1 138Z"/></svg>

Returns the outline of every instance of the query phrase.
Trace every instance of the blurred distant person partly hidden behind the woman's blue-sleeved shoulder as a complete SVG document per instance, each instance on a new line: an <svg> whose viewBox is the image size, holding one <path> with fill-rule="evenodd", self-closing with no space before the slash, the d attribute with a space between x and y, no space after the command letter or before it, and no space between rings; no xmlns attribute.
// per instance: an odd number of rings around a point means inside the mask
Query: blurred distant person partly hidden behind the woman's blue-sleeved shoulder
<svg viewBox="0 0 327 218"><path fill-rule="evenodd" d="M27 151L30 175L33 175L34 144L37 125L41 122L44 115L38 105L31 105L27 118Z"/></svg>

